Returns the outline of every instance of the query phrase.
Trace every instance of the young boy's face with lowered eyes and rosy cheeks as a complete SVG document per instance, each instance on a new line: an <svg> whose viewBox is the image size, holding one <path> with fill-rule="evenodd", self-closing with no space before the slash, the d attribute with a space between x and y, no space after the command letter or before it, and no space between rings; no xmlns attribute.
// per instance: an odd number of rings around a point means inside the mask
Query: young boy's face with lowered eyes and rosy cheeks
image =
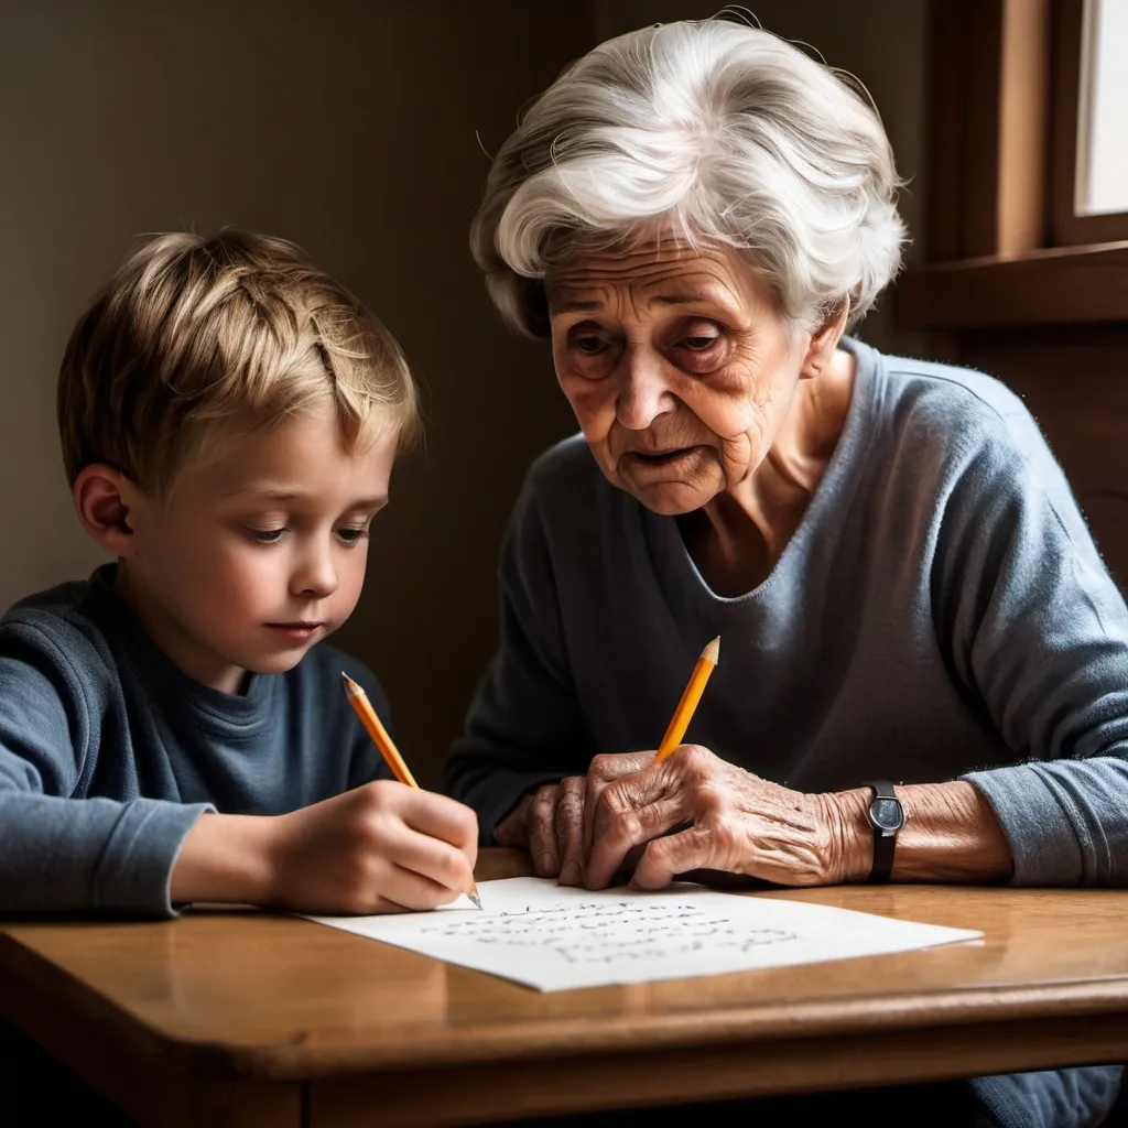
<svg viewBox="0 0 1128 1128"><path fill-rule="evenodd" d="M118 588L205 685L289 670L356 606L395 455L394 434L347 451L326 404L191 467L164 512L126 483Z"/></svg>

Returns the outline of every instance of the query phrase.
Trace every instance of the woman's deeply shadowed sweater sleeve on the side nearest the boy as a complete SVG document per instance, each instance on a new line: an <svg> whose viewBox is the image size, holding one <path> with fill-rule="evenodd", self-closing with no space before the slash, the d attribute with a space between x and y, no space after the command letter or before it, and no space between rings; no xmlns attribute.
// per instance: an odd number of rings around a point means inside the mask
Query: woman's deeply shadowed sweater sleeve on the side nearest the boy
<svg viewBox="0 0 1128 1128"><path fill-rule="evenodd" d="M444 785L478 814L483 845L518 800L582 775L596 749L572 684L552 553L535 484L502 546L500 638L451 750Z"/></svg>

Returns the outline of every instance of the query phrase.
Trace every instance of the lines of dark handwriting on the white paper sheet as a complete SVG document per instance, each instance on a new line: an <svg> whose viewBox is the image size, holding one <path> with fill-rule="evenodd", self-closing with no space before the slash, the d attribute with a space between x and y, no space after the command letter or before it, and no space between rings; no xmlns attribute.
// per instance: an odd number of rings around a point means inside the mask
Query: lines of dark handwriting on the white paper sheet
<svg viewBox="0 0 1128 1128"><path fill-rule="evenodd" d="M708 949L747 952L796 940L784 928L755 927L691 904L592 901L526 906L479 917L459 916L421 929L474 944L549 949L569 963L610 963L688 955Z"/></svg>

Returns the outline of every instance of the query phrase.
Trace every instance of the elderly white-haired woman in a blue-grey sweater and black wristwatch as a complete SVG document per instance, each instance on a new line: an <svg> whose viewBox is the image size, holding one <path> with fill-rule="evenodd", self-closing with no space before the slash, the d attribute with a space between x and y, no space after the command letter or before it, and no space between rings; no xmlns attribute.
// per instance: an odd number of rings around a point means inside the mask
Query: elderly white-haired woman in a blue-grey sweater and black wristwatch
<svg viewBox="0 0 1128 1128"><path fill-rule="evenodd" d="M1061 470L999 384L844 336L897 188L840 73L722 20L605 43L499 153L474 252L583 433L518 502L448 784L540 874L1128 883L1128 614ZM1118 1083L973 1084L1064 1126Z"/></svg>

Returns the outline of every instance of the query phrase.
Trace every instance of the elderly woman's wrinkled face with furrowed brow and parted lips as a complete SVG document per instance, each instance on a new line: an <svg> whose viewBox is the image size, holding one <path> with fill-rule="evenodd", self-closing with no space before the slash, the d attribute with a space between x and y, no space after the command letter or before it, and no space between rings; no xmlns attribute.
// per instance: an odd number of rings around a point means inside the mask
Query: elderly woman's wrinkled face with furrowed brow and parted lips
<svg viewBox="0 0 1128 1128"><path fill-rule="evenodd" d="M581 254L546 290L556 376L592 453L658 513L690 512L748 479L800 377L817 371L810 334L728 247Z"/></svg>

